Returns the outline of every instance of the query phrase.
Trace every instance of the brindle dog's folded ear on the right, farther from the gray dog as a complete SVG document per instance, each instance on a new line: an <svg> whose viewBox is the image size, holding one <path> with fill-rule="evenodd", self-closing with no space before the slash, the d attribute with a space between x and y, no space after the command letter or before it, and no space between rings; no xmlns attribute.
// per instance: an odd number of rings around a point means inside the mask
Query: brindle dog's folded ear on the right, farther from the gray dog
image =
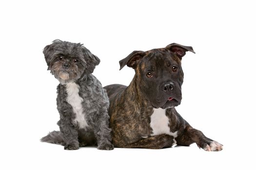
<svg viewBox="0 0 256 170"><path fill-rule="evenodd" d="M180 59L186 54L186 51L191 51L196 53L192 47L190 46L183 46L180 44L172 43L165 47L172 52L174 52Z"/></svg>

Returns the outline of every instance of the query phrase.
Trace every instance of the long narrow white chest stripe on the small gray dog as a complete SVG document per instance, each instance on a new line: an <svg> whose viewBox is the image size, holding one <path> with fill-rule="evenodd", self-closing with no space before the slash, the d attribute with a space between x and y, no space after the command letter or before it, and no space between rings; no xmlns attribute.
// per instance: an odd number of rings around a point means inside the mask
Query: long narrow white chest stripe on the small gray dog
<svg viewBox="0 0 256 170"><path fill-rule="evenodd" d="M79 85L76 83L68 83L66 84L66 91L68 94L67 102L72 106L73 112L76 114L74 123L78 123L80 129L86 128L88 124L83 114L83 99L79 96Z"/></svg>

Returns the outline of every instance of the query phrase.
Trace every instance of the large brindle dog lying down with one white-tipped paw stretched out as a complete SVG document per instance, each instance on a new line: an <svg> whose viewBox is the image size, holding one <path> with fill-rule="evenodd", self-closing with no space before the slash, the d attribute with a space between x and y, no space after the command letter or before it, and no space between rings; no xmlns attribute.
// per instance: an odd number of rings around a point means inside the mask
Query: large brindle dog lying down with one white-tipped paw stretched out
<svg viewBox="0 0 256 170"><path fill-rule="evenodd" d="M110 128L119 148L161 149L197 143L205 151L222 145L194 129L176 111L181 102L181 59L192 47L170 44L150 51L133 51L119 61L135 70L129 86L107 85ZM195 52L194 52L195 53Z"/></svg>

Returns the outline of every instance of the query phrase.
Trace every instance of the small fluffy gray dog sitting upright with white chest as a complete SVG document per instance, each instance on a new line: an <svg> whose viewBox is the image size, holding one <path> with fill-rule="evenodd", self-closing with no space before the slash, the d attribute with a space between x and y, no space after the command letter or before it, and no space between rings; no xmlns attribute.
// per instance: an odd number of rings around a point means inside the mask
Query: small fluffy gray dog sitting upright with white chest
<svg viewBox="0 0 256 170"><path fill-rule="evenodd" d="M96 145L100 150L112 150L109 125L109 99L106 91L91 73L99 64L97 56L83 44L54 40L43 54L48 70L59 80L57 108L60 131L41 138L42 142L77 150Z"/></svg>

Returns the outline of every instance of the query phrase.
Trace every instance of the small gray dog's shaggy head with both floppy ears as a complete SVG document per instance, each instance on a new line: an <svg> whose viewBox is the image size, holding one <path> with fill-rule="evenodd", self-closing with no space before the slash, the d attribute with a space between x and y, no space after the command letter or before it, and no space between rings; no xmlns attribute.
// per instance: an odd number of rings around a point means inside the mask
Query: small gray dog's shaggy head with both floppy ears
<svg viewBox="0 0 256 170"><path fill-rule="evenodd" d="M100 60L83 44L54 40L43 49L48 70L61 84L77 81L83 74L91 74Z"/></svg>

